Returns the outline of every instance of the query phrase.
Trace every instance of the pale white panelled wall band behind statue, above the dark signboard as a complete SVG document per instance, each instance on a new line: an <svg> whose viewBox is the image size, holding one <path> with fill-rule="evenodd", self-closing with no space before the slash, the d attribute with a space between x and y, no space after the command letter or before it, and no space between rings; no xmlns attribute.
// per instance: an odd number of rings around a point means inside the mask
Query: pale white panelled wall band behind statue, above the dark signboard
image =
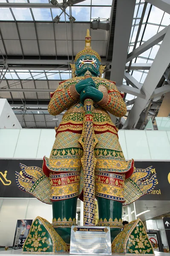
<svg viewBox="0 0 170 256"><path fill-rule="evenodd" d="M38 118L35 115L36 121ZM0 130L0 158L49 157L55 141L54 129L22 129L20 134L19 131L15 129L13 134L10 129ZM170 131L121 130L118 136L126 159L170 160Z"/></svg>

